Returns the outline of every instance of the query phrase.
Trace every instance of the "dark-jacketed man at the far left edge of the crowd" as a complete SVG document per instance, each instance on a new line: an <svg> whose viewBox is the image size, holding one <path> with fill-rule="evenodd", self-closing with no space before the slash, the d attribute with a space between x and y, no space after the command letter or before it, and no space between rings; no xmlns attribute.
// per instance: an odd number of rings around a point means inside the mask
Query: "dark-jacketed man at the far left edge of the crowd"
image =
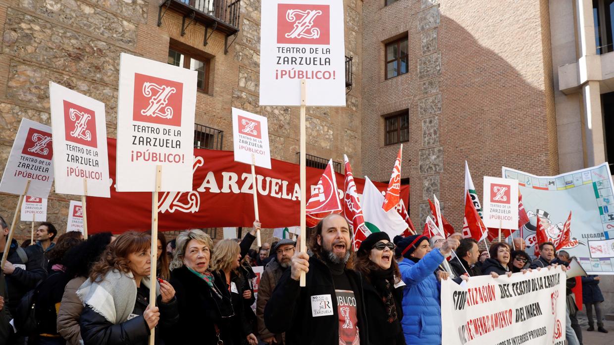
<svg viewBox="0 0 614 345"><path fill-rule="evenodd" d="M0 216L0 256L4 255L4 247L9 237L9 225ZM36 246L21 248L17 241L13 239L10 243L9 256L7 257L2 273L6 278L8 303L5 301L4 308L9 308L9 313L15 315L17 305L21 297L31 289L36 287L37 282L47 277L47 270L44 268L44 257ZM23 344L24 339L18 338L9 344Z"/></svg>

